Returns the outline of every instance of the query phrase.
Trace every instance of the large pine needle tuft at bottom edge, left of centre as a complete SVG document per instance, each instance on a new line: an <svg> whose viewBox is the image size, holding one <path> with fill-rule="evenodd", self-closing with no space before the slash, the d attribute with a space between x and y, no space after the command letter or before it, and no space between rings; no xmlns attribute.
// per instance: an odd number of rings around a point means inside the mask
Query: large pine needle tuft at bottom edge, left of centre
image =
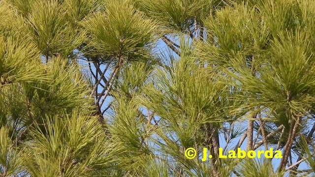
<svg viewBox="0 0 315 177"><path fill-rule="evenodd" d="M65 118L47 117L44 130L37 125L30 132L25 165L31 176L99 176L115 162L120 147L108 146L97 118L77 110ZM106 156L104 154L107 154Z"/></svg>

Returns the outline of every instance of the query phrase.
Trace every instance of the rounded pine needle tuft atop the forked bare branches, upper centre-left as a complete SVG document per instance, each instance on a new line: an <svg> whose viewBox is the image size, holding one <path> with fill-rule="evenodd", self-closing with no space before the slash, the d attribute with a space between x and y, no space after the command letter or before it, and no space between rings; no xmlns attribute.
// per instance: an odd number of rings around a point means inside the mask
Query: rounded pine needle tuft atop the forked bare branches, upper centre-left
<svg viewBox="0 0 315 177"><path fill-rule="evenodd" d="M144 47L153 42L157 28L153 20L146 19L130 0L110 0L102 11L83 23L91 47L103 55L129 60L148 53Z"/></svg>

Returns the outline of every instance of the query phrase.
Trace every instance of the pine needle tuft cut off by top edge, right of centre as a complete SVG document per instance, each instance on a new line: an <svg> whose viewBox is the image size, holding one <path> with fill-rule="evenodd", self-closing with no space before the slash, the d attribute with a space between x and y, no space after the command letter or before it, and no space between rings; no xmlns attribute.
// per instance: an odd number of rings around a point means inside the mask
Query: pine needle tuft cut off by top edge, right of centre
<svg viewBox="0 0 315 177"><path fill-rule="evenodd" d="M220 0L135 0L137 6L149 17L158 19L165 33L188 32L194 18L202 23Z"/></svg>

